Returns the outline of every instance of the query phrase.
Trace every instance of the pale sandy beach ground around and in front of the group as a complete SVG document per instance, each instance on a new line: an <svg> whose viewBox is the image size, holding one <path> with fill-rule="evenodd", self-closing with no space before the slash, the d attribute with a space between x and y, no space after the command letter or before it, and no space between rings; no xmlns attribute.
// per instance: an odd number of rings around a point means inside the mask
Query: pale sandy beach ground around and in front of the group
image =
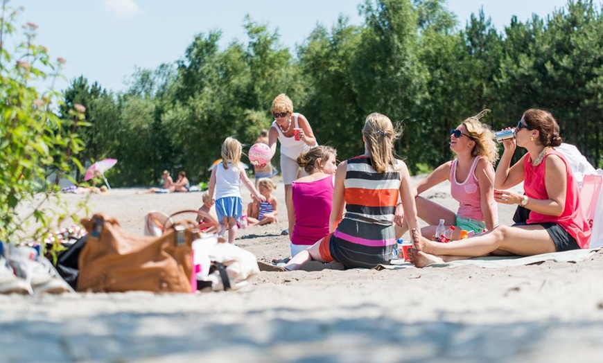
<svg viewBox="0 0 603 363"><path fill-rule="evenodd" d="M141 235L148 211L201 205L201 193L141 191L91 195L90 210ZM425 195L456 210L448 191ZM288 256L281 182L275 193L279 224L236 241L259 260ZM500 223L513 211L499 206ZM595 252L502 268L263 272L236 292L0 295L0 362L600 362L602 262Z"/></svg>

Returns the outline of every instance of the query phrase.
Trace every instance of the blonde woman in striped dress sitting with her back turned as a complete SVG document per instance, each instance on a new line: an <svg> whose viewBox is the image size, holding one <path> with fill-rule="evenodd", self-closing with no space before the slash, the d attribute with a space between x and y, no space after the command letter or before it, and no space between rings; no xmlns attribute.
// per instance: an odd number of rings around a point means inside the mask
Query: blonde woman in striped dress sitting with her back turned
<svg viewBox="0 0 603 363"><path fill-rule="evenodd" d="M419 230L408 168L394 157L394 140L400 134L387 116L367 117L362 128L365 153L343 161L335 172L331 233L295 255L284 269L298 269L309 260L336 260L346 268L389 263L396 244L393 220L400 197L409 226Z"/></svg>

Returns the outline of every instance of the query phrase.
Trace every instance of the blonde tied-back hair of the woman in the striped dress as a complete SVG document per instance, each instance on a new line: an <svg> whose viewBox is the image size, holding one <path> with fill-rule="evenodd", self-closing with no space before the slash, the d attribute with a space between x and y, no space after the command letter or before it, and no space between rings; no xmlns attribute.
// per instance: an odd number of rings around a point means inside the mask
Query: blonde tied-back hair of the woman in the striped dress
<svg viewBox="0 0 603 363"><path fill-rule="evenodd" d="M386 172L394 167L394 141L402 135L401 130L394 129L390 118L374 112L367 116L365 127L362 127L367 148L371 155L371 163L376 172Z"/></svg>

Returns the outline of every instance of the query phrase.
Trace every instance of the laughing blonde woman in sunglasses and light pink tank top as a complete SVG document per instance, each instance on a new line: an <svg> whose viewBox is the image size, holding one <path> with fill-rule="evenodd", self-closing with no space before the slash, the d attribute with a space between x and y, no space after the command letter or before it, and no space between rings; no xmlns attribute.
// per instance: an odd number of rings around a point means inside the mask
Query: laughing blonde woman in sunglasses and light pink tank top
<svg viewBox="0 0 603 363"><path fill-rule="evenodd" d="M417 213L429 224L421 229L422 236L434 236L440 219L444 220L446 229L456 227L451 236L454 240L458 239L462 229L480 233L498 224L498 204L494 202L491 182L494 179L493 163L498 160L498 146L488 125L480 121L487 112L489 109L484 109L451 130L450 148L456 155L455 159L438 166L415 186ZM446 180L451 184L452 197L459 202L457 213L420 196ZM401 216L398 208L396 223L400 227L397 228L397 237L408 231Z"/></svg>

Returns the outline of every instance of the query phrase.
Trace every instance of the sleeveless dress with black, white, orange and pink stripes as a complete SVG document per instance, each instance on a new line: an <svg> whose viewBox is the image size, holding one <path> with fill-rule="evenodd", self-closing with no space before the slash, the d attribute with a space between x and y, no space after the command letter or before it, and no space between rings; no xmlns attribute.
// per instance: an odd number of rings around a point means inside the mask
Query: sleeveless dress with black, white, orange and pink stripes
<svg viewBox="0 0 603 363"><path fill-rule="evenodd" d="M389 263L400 173L376 172L369 157L354 157L347 161L344 186L346 213L331 236L331 256L347 268Z"/></svg>

